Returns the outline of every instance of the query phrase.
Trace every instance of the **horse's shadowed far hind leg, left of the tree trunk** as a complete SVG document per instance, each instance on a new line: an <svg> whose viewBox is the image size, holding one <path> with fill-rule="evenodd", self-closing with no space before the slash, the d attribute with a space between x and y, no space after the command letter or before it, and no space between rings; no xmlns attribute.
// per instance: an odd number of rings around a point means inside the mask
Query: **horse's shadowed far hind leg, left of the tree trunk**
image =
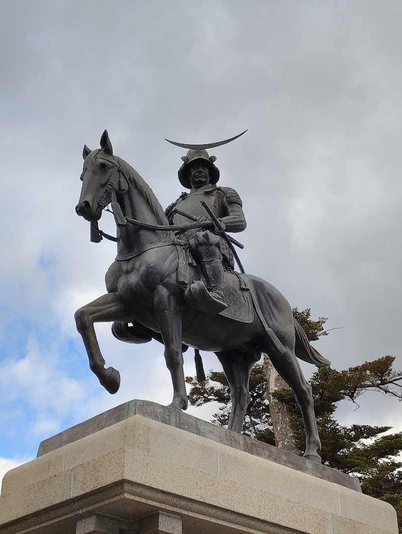
<svg viewBox="0 0 402 534"><path fill-rule="evenodd" d="M256 350L250 350L248 352L231 350L227 352L216 352L215 354L230 384L232 411L228 429L240 433L247 406L250 402L248 381L251 367L253 367L255 362L258 362L261 357L261 352Z"/></svg>

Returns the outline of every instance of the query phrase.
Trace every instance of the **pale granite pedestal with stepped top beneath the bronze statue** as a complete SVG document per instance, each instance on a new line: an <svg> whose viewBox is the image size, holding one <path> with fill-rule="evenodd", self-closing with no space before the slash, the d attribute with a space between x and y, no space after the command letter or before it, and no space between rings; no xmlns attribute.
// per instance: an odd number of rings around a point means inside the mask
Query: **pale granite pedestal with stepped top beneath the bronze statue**
<svg viewBox="0 0 402 534"><path fill-rule="evenodd" d="M333 469L133 401L7 473L0 534L397 534L393 508L359 490Z"/></svg>

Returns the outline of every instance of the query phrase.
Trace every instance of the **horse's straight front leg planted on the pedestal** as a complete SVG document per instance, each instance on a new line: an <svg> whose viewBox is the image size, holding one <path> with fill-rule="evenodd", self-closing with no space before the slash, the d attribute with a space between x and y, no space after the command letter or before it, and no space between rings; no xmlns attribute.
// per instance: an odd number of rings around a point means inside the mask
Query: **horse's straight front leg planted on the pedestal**
<svg viewBox="0 0 402 534"><path fill-rule="evenodd" d="M182 353L182 307L182 298L177 291L169 291L163 286L157 287L154 294L154 313L165 346L166 365L172 377L173 400L170 406L187 410Z"/></svg>

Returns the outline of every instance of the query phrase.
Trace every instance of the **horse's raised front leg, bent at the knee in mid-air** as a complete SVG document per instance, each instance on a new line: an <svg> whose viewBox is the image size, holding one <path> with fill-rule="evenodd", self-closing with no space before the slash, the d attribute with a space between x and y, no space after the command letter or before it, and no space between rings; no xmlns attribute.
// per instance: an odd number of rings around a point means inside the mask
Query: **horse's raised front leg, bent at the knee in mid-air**
<svg viewBox="0 0 402 534"><path fill-rule="evenodd" d="M120 373L113 367L105 369L105 360L93 327L93 323L109 321L130 321L117 293L107 293L75 312L75 324L84 341L91 371L97 375L102 386L113 394L120 387Z"/></svg>

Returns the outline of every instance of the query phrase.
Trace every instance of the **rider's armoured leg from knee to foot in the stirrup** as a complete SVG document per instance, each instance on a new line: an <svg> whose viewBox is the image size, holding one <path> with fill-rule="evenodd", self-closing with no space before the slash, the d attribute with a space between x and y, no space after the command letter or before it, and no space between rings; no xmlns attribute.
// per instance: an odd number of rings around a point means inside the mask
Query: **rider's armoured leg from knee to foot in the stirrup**
<svg viewBox="0 0 402 534"><path fill-rule="evenodd" d="M217 315L227 308L223 292L223 265L220 239L209 231L197 232L190 241L194 253L201 258L202 280L193 282L184 292L188 304L196 310Z"/></svg>

